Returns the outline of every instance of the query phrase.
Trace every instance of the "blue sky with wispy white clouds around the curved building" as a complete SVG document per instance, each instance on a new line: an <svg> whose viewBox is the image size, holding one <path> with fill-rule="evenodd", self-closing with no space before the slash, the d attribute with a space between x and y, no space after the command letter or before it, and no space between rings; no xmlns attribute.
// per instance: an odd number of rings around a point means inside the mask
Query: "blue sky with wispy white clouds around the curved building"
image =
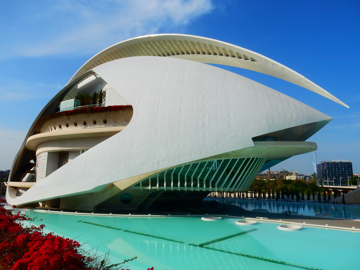
<svg viewBox="0 0 360 270"><path fill-rule="evenodd" d="M31 123L83 63L122 40L153 33L210 37L255 51L350 106L271 76L222 67L333 117L309 140L318 162L347 159L360 173L360 2L108 0L2 1L0 170L11 167ZM274 104L274 110L282 110ZM313 154L271 170L310 174Z"/></svg>

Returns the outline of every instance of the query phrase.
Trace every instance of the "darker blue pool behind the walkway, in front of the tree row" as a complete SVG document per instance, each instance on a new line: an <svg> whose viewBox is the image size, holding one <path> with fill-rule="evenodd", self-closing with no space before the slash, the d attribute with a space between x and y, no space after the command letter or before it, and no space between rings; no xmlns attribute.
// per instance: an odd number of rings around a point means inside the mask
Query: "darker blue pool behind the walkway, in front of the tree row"
<svg viewBox="0 0 360 270"><path fill-rule="evenodd" d="M210 200L206 198L205 200ZM256 208L267 209L272 213L281 213L285 210L297 211L299 215L315 216L315 214L332 214L340 219L360 219L360 206L345 206L342 204L316 204L316 203L290 203L290 202L265 202L246 201L237 199L211 199L220 203L227 203L243 207L245 210Z"/></svg>

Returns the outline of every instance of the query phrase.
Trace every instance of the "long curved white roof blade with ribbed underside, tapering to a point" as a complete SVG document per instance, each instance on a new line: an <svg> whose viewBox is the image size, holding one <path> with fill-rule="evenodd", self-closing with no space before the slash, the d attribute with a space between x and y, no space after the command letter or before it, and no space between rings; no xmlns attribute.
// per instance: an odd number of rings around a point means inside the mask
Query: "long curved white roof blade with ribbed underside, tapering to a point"
<svg viewBox="0 0 360 270"><path fill-rule="evenodd" d="M304 87L349 108L314 82L264 55L220 40L185 34L152 34L121 41L89 59L69 82L103 63L136 56L175 57L249 69Z"/></svg>

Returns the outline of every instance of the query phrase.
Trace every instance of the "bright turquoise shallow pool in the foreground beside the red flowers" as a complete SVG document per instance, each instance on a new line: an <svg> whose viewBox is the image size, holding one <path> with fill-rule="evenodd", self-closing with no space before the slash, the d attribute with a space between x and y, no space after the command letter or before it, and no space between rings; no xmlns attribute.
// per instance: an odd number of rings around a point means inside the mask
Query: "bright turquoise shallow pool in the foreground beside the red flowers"
<svg viewBox="0 0 360 270"><path fill-rule="evenodd" d="M324 269L357 270L360 233L304 226L281 231L278 223L235 224L238 219L110 217L22 211L36 225L112 252L112 262L137 256L131 270ZM335 258L334 258L335 257Z"/></svg>

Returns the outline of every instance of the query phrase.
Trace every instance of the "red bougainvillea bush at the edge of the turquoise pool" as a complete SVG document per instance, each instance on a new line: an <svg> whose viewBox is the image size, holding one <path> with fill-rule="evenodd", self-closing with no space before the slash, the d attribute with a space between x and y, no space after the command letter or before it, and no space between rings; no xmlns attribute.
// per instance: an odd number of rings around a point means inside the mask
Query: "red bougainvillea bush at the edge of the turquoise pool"
<svg viewBox="0 0 360 270"><path fill-rule="evenodd" d="M6 200L0 199L0 270L115 270L136 259L110 264L109 252L90 255L75 240L45 234L44 225L24 226L24 221L34 219L20 212L14 215L3 204Z"/></svg>

